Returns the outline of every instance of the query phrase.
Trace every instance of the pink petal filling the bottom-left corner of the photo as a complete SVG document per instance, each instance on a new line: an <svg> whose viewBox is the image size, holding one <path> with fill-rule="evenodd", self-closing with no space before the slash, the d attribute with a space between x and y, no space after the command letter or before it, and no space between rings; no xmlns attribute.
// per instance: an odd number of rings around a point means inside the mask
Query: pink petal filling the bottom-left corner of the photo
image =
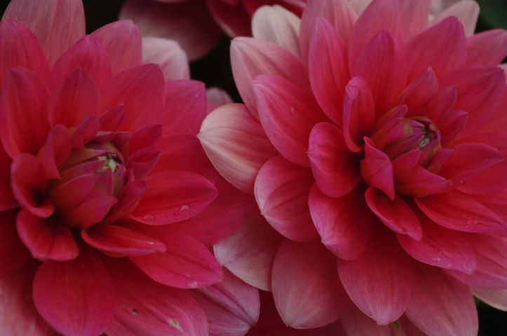
<svg viewBox="0 0 507 336"><path fill-rule="evenodd" d="M11 256L14 251L11 251ZM8 335L50 336L54 331L35 310L32 282L38 262L27 262L10 276L0 278L0 330Z"/></svg>

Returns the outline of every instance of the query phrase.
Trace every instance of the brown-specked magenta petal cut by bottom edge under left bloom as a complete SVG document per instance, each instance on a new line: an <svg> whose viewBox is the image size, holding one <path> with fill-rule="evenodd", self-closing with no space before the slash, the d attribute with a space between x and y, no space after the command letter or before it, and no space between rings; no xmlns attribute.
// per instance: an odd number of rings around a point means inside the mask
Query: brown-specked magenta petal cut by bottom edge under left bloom
<svg viewBox="0 0 507 336"><path fill-rule="evenodd" d="M107 335L208 335L203 310L186 291L156 283L124 260L112 260L107 268L116 291Z"/></svg>

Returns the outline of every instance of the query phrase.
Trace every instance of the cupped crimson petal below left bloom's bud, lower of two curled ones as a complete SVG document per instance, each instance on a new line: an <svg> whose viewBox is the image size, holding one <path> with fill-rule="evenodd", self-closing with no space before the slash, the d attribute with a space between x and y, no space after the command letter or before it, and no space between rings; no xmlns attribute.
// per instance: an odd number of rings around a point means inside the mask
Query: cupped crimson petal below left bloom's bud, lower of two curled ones
<svg viewBox="0 0 507 336"><path fill-rule="evenodd" d="M18 235L39 260L67 261L79 254L79 249L70 230L62 223L39 218L22 210L16 218Z"/></svg>

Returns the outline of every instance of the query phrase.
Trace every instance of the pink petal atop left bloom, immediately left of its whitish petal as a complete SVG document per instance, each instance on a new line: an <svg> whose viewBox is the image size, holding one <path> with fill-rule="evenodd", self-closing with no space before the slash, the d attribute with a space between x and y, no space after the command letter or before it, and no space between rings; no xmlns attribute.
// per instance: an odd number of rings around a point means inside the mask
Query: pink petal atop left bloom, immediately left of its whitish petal
<svg viewBox="0 0 507 336"><path fill-rule="evenodd" d="M141 32L133 22L112 22L93 31L91 36L106 49L114 74L141 64Z"/></svg>

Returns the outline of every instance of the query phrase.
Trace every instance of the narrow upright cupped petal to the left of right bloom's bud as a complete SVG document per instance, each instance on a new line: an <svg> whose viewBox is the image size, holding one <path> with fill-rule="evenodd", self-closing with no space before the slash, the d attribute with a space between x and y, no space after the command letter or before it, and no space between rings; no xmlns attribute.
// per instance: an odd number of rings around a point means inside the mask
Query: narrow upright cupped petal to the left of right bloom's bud
<svg viewBox="0 0 507 336"><path fill-rule="evenodd" d="M375 121L375 104L370 87L363 78L354 77L345 88L343 132L349 150L363 149L363 137L372 133Z"/></svg>

